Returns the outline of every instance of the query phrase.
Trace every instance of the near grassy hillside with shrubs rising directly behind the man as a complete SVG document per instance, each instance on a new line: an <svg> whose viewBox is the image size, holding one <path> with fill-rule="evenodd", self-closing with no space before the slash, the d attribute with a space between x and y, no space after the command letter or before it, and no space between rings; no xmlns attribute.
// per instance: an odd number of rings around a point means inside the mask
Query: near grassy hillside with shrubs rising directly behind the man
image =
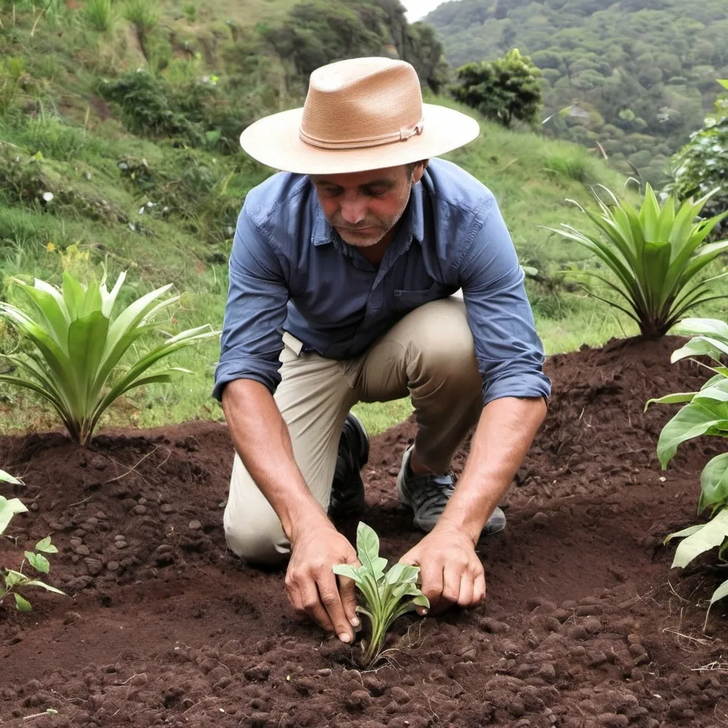
<svg viewBox="0 0 728 728"><path fill-rule="evenodd" d="M350 7L329 4L334 12ZM130 22L118 15L100 31L81 10L40 18L32 9L0 10L1 298L18 301L13 276L58 284L63 269L84 276L106 264L112 280L129 272L127 302L169 282L183 293L170 331L221 326L237 213L247 191L270 173L238 149L237 132L246 119L300 98L264 80L283 72L282 63L274 66L274 52L243 55L253 42L247 31L229 29L223 38L217 21L205 25L178 9L182 17L170 23L186 23L197 39L220 36L210 62L202 53L183 52L181 36L167 22L175 12L159 9L151 28L140 17ZM400 28L411 43L416 30ZM172 51L161 64L159 49L165 48ZM285 78L293 87L296 71L291 74ZM582 296L558 295L561 287L550 275L584 253L539 226L582 224L566 198L587 202L587 184L620 189L622 179L577 146L487 123L482 130L451 159L494 190L523 264L545 278L529 282L529 291L547 347L596 344L620 333L610 312L597 314ZM0 351L17 343L1 326ZM220 419L210 398L217 357L216 342L186 349L174 363L193 376L174 389L135 390L108 421ZM7 371L1 361L0 367ZM4 428L50 427L55 418L36 404L2 387Z"/></svg>

